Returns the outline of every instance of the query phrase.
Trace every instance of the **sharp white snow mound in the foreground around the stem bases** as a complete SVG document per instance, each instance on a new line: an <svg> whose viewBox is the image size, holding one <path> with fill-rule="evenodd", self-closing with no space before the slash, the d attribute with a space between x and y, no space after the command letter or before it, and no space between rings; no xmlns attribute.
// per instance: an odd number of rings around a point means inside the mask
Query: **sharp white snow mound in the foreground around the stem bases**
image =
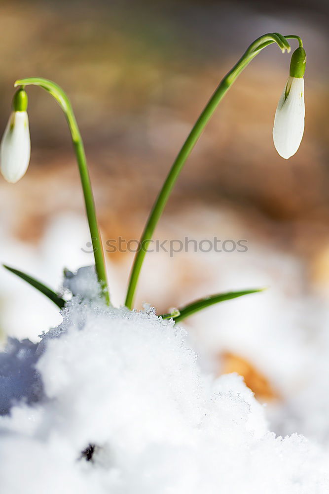
<svg viewBox="0 0 329 494"><path fill-rule="evenodd" d="M1 492L329 492L327 453L269 432L242 378L204 374L172 321L79 295L63 318L0 354Z"/></svg>

